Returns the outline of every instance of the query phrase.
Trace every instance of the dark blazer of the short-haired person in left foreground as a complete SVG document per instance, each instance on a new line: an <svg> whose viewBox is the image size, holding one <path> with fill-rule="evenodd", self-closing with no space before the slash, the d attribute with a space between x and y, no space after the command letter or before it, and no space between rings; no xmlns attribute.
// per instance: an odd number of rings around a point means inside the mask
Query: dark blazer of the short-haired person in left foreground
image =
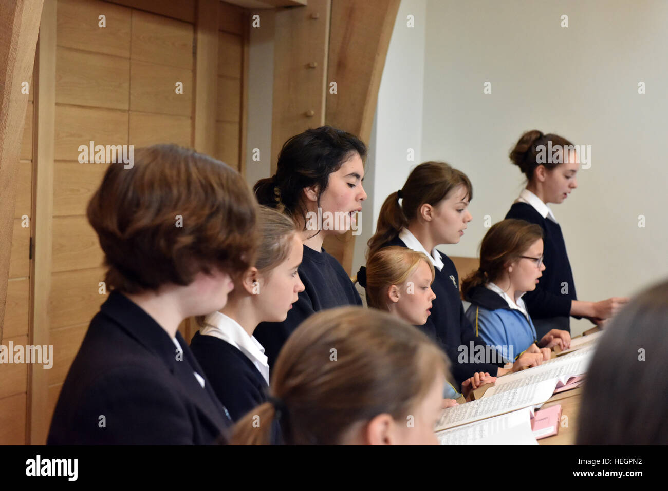
<svg viewBox="0 0 668 491"><path fill-rule="evenodd" d="M69 368L47 444L213 443L230 419L184 338L176 339L181 354L151 316L112 292Z"/></svg>

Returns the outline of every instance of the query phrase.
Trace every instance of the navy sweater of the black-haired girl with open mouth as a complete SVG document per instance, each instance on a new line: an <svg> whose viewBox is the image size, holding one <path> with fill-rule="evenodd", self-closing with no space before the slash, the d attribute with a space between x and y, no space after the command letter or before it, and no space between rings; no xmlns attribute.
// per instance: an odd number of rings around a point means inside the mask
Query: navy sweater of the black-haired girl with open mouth
<svg viewBox="0 0 668 491"><path fill-rule="evenodd" d="M343 266L333 257L304 246L304 256L297 272L304 284L299 300L283 322L261 322L253 336L265 347L269 367L273 367L283 344L297 326L311 314L347 305L362 305L355 286Z"/></svg>

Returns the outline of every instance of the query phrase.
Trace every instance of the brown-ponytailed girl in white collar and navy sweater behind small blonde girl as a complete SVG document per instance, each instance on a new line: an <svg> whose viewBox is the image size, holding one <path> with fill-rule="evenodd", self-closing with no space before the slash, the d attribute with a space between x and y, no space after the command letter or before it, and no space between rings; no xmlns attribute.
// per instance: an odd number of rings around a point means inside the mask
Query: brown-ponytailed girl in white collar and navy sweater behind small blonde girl
<svg viewBox="0 0 668 491"><path fill-rule="evenodd" d="M368 259L381 248L399 246L422 252L432 262L436 299L432 314L420 330L448 354L457 384L480 372L492 376L504 372L502 363L476 363L472 354L466 355L474 346L482 345L482 341L464 315L454 263L436 250L438 244L460 241L472 219L468 212L472 197L471 181L466 174L445 162L421 163L411 171L403 187L385 199L367 253Z"/></svg>

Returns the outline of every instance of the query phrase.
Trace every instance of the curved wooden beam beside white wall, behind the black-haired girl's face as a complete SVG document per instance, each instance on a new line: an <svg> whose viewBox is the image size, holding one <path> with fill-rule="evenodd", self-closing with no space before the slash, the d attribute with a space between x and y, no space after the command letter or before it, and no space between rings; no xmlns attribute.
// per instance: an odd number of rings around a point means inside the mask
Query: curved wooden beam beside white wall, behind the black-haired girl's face
<svg viewBox="0 0 668 491"><path fill-rule="evenodd" d="M365 143L371 137L398 11L399 0L332 0L325 123L349 131ZM331 82L336 82L336 93L331 93ZM323 247L351 274L355 250L351 232L327 237Z"/></svg>

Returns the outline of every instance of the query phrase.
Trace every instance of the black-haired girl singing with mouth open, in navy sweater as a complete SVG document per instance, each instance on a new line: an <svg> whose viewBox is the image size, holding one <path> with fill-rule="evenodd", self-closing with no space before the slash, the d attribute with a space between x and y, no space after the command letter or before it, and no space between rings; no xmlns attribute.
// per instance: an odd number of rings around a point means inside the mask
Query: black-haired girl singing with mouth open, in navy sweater
<svg viewBox="0 0 668 491"><path fill-rule="evenodd" d="M311 314L362 304L341 264L323 249L323 239L356 225L367 197L362 187L366 152L361 140L340 129L307 129L285 142L276 174L253 187L261 205L293 219L303 240L298 273L305 290L283 322L262 322L255 330L270 367L288 336Z"/></svg>

